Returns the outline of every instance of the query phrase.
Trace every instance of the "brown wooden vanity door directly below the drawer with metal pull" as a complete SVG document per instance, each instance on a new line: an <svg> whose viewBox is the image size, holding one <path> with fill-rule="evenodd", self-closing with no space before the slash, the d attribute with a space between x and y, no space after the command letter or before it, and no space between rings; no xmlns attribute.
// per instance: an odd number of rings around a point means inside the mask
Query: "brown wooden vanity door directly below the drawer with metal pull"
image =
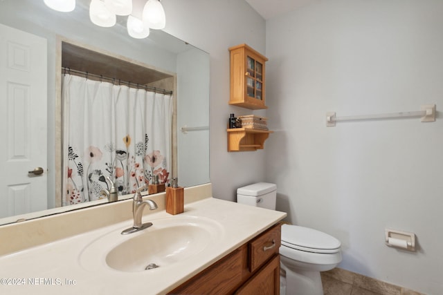
<svg viewBox="0 0 443 295"><path fill-rule="evenodd" d="M279 295L280 255L275 255L252 278L235 292L239 295Z"/></svg>

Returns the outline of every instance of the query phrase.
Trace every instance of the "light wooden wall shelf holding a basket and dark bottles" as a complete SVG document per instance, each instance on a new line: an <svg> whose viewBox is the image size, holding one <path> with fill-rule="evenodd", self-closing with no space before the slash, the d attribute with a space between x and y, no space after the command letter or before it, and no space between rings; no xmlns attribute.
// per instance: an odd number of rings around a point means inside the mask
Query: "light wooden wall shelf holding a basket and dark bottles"
<svg viewBox="0 0 443 295"><path fill-rule="evenodd" d="M228 129L228 151L257 151L273 131L234 128Z"/></svg>

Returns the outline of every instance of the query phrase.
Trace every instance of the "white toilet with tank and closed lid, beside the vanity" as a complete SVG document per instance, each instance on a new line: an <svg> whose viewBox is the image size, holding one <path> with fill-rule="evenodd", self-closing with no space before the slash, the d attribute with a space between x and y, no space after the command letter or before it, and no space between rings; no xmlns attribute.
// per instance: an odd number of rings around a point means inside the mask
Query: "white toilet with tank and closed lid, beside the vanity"
<svg viewBox="0 0 443 295"><path fill-rule="evenodd" d="M237 202L275 210L277 186L259 182L237 189ZM320 272L341 262L341 242L321 231L282 225L280 294L323 295Z"/></svg>

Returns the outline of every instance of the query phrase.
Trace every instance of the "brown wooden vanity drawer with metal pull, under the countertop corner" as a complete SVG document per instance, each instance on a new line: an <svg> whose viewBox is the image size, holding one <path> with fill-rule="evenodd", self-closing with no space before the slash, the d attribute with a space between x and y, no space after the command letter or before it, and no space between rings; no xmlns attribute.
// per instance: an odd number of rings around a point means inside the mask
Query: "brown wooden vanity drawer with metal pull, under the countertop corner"
<svg viewBox="0 0 443 295"><path fill-rule="evenodd" d="M269 258L278 254L281 233L281 225L274 225L268 231L248 242L248 269L250 272L255 272Z"/></svg>

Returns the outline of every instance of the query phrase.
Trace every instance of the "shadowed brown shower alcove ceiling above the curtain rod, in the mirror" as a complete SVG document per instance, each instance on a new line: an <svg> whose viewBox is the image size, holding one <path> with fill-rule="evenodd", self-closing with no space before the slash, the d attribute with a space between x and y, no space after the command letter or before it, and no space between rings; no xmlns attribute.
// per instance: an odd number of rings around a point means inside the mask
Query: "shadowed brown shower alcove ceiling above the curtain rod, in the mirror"
<svg viewBox="0 0 443 295"><path fill-rule="evenodd" d="M63 42L62 66L134 84L150 84L168 77L165 73ZM168 89L169 90L169 89ZM170 89L172 90L172 89Z"/></svg>

